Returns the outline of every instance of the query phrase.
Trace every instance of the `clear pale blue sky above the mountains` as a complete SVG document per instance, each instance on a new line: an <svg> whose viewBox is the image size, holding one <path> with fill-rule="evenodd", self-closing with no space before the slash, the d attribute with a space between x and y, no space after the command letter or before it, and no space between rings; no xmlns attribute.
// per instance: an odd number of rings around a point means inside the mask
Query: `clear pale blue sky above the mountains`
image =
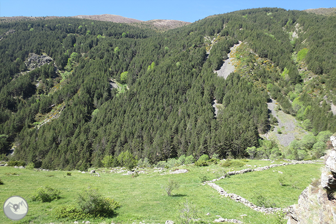
<svg viewBox="0 0 336 224"><path fill-rule="evenodd" d="M214 14L260 7L331 8L336 7L336 0L0 0L0 17L113 14L143 21L195 22Z"/></svg>

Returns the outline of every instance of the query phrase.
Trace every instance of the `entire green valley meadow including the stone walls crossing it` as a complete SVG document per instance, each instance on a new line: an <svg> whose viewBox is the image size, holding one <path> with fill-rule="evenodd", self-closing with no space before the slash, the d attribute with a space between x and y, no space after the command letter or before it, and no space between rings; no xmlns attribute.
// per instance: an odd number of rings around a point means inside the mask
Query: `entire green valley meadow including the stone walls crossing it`
<svg viewBox="0 0 336 224"><path fill-rule="evenodd" d="M184 162L180 159L178 163L181 161ZM3 191L0 198L5 200L8 195L20 194L27 200L29 212L19 223L70 224L90 221L92 224L154 224L167 220L186 223L192 219L197 219L196 223L213 223L219 219L229 219L235 223L272 224L279 220L279 216L267 211L286 210L297 203L297 198L311 180L319 177L322 167L320 161L308 161L306 164L283 160L234 161L243 166L223 166L226 160L218 160L217 164L212 160L208 166L196 166L186 161L182 165L171 162L166 168L144 164L136 172L127 171L125 167L66 172L37 170L28 166L26 169L2 166L0 175L4 184L1 185ZM239 174L246 169L252 170L251 167L255 171ZM165 188L170 180L177 181L180 187L173 189L172 195L168 196ZM252 190L246 182L253 185ZM61 197L50 202L30 199L40 187L47 185L59 190ZM88 188L97 188L103 197L119 202L120 207L113 215L71 218L73 211L76 211L73 207L79 209L76 203L80 192ZM247 200L255 209L244 204ZM269 208L269 205L272 207ZM68 208L66 216L58 217L65 207ZM285 222L285 219L280 220ZM0 216L0 221L3 224L12 223L5 215Z"/></svg>

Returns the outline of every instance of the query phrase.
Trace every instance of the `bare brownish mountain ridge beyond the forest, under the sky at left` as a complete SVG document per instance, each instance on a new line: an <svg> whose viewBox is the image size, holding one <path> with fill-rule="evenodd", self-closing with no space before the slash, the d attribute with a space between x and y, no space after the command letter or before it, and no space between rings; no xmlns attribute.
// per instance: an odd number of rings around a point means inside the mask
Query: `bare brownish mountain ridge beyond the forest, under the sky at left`
<svg viewBox="0 0 336 224"><path fill-rule="evenodd" d="M16 21L27 21L27 20L47 20L47 19L60 19L66 17L60 16L47 16L47 17L27 17L27 16L13 16L13 17L0 17L0 23L4 22L16 22ZM178 27L182 27L190 24L190 22L184 22L179 20L148 20L141 21L137 19L127 18L118 15L79 15L79 16L71 16L69 18L78 18L78 19L88 19L88 20L98 20L98 21L106 21L106 22L115 22L115 23L128 23L130 25L141 26L142 24L148 25L149 27L155 27L157 29L174 29Z"/></svg>

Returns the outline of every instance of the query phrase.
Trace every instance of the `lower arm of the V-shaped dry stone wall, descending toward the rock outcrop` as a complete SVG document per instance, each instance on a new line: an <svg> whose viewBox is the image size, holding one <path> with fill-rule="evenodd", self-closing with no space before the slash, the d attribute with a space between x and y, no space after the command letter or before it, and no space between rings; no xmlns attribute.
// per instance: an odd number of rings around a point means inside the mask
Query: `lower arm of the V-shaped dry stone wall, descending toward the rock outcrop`
<svg viewBox="0 0 336 224"><path fill-rule="evenodd" d="M208 185L210 187L212 187L213 189L215 189L216 191L218 191L218 193L224 197L229 197L237 202L240 202L256 211L261 211L267 214L270 213L275 213L276 211L281 211L282 208L263 208L263 207L259 207L251 202L249 202L247 199L237 195L237 194L229 194L228 192L226 192L224 189L222 189L221 187L219 187L218 185L214 184L214 183L208 183Z"/></svg>

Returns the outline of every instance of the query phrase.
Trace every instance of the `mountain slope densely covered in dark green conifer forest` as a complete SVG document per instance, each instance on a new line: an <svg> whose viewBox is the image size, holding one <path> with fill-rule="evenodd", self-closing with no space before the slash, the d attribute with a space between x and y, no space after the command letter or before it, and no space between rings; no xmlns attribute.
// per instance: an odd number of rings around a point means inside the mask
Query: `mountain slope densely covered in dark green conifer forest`
<svg viewBox="0 0 336 224"><path fill-rule="evenodd" d="M151 162L244 157L251 147L285 155L259 136L274 123L270 96L315 135L336 132L335 25L336 17L277 8L165 32L70 18L3 23L1 151L14 144L11 159L69 170L101 166L104 156L126 151ZM237 57L247 69L218 77L213 71L239 40L251 49ZM54 63L27 71L29 53ZM216 118L214 98L222 103ZM311 149L293 146L291 155Z"/></svg>

